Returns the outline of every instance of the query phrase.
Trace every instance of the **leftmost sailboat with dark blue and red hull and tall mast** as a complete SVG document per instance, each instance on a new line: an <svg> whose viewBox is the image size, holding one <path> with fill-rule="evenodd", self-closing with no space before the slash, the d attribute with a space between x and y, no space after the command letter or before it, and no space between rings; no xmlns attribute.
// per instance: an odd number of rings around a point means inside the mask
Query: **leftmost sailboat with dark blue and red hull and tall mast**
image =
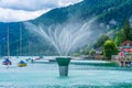
<svg viewBox="0 0 132 88"><path fill-rule="evenodd" d="M7 65L10 66L12 63L9 59L10 58L10 47L9 47L9 28L7 30L7 58L4 58L4 61L2 62L2 65Z"/></svg>

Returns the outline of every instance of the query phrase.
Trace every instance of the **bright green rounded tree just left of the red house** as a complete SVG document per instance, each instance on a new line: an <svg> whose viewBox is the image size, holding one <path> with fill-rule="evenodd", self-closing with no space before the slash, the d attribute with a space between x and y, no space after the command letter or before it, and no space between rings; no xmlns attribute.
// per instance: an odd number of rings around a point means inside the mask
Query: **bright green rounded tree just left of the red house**
<svg viewBox="0 0 132 88"><path fill-rule="evenodd" d="M118 54L118 48L114 42L111 40L106 41L106 43L103 44L103 56L107 59L111 59L111 56L117 54Z"/></svg>

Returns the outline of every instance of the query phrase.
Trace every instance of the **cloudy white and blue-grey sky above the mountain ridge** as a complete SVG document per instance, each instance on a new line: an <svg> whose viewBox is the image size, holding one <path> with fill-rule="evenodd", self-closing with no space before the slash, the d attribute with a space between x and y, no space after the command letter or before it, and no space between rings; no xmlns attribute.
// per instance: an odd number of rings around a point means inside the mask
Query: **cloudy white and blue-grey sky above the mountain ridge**
<svg viewBox="0 0 132 88"><path fill-rule="evenodd" d="M82 0L0 0L0 22L35 19L54 9Z"/></svg>

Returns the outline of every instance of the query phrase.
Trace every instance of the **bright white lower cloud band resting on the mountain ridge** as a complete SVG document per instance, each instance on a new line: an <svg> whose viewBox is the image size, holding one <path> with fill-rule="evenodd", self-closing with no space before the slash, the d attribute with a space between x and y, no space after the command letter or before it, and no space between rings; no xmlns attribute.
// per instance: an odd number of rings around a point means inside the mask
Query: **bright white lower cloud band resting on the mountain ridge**
<svg viewBox="0 0 132 88"><path fill-rule="evenodd" d="M23 10L12 10L0 8L0 22L18 22L31 20L40 16L41 14L47 12L48 10L37 10L37 11L23 11Z"/></svg>

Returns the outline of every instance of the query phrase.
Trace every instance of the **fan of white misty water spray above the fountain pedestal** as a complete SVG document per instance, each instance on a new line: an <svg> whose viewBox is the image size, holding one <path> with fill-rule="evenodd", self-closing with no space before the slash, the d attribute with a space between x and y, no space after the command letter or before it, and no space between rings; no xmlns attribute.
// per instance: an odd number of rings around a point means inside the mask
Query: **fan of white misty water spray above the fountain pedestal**
<svg viewBox="0 0 132 88"><path fill-rule="evenodd" d="M35 25L25 22L24 24L31 34L36 34L44 41L48 41L61 56L67 56L70 52L96 42L101 31L95 29L95 23L96 18L87 22L68 21L51 26L45 26L43 23Z"/></svg>

